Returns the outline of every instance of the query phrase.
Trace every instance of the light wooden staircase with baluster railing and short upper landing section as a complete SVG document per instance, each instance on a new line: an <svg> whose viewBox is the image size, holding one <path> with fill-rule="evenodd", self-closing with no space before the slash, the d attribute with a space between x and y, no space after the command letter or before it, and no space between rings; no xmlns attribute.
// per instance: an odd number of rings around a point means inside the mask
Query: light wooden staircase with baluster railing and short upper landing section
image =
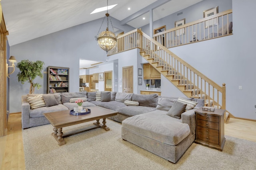
<svg viewBox="0 0 256 170"><path fill-rule="evenodd" d="M139 29L118 37L117 47L109 51L108 55L134 48L140 48L144 52L143 57L186 96L203 98L206 106L226 109L224 83L219 86ZM226 114L224 118L226 121Z"/></svg>

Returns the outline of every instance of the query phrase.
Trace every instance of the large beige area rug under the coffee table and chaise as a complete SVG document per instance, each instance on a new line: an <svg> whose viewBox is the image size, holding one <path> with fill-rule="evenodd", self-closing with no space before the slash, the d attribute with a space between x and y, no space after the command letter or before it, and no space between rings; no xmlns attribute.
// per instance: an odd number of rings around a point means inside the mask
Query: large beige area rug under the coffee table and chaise
<svg viewBox="0 0 256 170"><path fill-rule="evenodd" d="M102 121L102 119L100 120ZM121 138L120 123L106 120L98 128L70 137L59 146L52 125L22 130L28 170L255 170L256 143L226 136L222 152L193 143L176 164ZM93 122L63 128L63 133ZM157 146L156 146L157 147Z"/></svg>

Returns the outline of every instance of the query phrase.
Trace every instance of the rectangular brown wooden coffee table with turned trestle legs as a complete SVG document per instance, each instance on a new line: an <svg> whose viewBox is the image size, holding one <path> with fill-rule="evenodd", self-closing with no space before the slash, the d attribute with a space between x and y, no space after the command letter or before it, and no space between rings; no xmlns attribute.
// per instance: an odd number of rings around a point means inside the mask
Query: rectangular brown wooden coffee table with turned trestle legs
<svg viewBox="0 0 256 170"><path fill-rule="evenodd" d="M88 109L91 109L91 113L86 115L70 115L70 110L64 110L64 111L56 111L56 112L50 112L50 113L44 113L44 116L50 121L53 128L52 136L56 139L58 144L65 145L66 142L64 141L64 137L68 137L71 135L75 135L78 133L82 133L85 131L89 131L96 128L103 128L106 131L109 131L110 129L106 126L106 117L117 115L117 111L106 109L99 106L92 106L92 107L86 107ZM100 124L100 119L103 119L102 124ZM75 133L70 133L63 135L62 128L71 126L71 125L77 125L79 123L84 123L88 121L96 120L95 127L84 129L82 131L78 131Z"/></svg>

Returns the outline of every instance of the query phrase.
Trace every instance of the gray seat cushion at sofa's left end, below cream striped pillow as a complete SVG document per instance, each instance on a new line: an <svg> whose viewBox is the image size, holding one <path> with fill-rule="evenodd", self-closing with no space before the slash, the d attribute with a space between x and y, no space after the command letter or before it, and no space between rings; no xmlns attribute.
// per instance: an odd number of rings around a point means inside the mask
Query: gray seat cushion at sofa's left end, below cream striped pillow
<svg viewBox="0 0 256 170"><path fill-rule="evenodd" d="M40 107L30 111L30 117L41 117L44 116L43 113L49 113L54 111L62 111L68 110L68 107L64 106L63 104L50 106L50 107Z"/></svg>

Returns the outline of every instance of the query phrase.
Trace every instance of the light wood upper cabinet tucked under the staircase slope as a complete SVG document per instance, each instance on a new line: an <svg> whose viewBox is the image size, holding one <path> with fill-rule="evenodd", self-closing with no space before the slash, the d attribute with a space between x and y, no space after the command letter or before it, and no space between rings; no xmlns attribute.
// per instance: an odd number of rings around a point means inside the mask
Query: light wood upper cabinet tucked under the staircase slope
<svg viewBox="0 0 256 170"><path fill-rule="evenodd" d="M161 79L161 73L151 66L151 64L143 64L143 78L146 80Z"/></svg>

